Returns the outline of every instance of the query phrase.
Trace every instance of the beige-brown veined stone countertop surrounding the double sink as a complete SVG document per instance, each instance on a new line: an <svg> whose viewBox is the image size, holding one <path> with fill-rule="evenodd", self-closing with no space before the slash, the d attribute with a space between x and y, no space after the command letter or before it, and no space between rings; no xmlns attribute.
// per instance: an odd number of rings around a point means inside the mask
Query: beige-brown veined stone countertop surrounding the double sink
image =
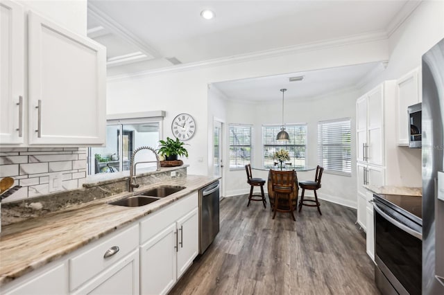
<svg viewBox="0 0 444 295"><path fill-rule="evenodd" d="M65 211L5 226L0 233L0 287L89 242L121 229L219 178L187 175L135 189L134 193L120 193L71 206ZM107 204L163 185L186 188L146 206L130 208Z"/></svg>

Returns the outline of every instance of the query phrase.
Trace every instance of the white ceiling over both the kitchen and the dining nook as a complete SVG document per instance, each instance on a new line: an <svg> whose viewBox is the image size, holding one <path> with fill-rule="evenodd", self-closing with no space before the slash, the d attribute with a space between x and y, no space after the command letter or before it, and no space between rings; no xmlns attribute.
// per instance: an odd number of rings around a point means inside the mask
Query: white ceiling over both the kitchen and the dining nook
<svg viewBox="0 0 444 295"><path fill-rule="evenodd" d="M338 39L378 34L388 37L418 6L417 0L367 1L153 1L88 0L88 36L107 47L108 76L174 69L253 54L273 54ZM200 17L204 9L215 17ZM355 86L377 64L221 82L229 98L282 98L280 79L299 97ZM327 82L325 82L327 81ZM319 87L319 83L323 85ZM254 88L253 88L254 87ZM258 89L251 91L251 89Z"/></svg>

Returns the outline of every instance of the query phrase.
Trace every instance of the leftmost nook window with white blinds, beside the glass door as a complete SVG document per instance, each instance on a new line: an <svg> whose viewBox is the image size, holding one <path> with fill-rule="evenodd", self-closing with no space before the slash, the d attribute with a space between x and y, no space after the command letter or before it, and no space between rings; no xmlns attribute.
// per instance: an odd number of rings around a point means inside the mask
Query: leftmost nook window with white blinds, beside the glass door
<svg viewBox="0 0 444 295"><path fill-rule="evenodd" d="M230 169L251 163L252 131L250 125L230 125Z"/></svg>

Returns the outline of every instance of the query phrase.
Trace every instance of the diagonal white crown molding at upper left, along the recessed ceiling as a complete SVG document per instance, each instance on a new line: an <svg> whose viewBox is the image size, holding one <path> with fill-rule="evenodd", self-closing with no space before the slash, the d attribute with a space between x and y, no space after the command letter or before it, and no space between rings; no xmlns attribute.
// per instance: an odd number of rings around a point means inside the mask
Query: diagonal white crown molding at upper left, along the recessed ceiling
<svg viewBox="0 0 444 295"><path fill-rule="evenodd" d="M112 33L118 35L119 37L126 40L126 42L133 44L137 48L140 49L143 53L145 53L148 56L152 56L155 58L160 58L162 55L153 48L153 46L146 44L142 39L131 33L129 30L121 26L117 21L106 15L103 11L101 11L99 8L94 6L94 4L91 3L91 1L88 1L87 3L87 9L88 14L97 19L99 23L105 28L108 28Z"/></svg>

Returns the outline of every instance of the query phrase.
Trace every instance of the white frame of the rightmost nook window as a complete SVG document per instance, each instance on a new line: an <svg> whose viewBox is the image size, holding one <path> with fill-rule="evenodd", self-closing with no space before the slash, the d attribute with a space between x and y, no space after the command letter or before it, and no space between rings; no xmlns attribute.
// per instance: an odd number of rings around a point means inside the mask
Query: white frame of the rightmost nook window
<svg viewBox="0 0 444 295"><path fill-rule="evenodd" d="M323 154L322 154L322 147L327 146L327 144L323 144L323 138L322 138L322 130L320 128L325 128L324 125L326 124L331 124L331 123L341 123L341 122L348 122L349 127L350 127L350 136L349 136L349 142L348 142L348 148L350 150L350 172L344 171L343 169L343 165L341 166L341 171L339 170L332 170L331 168L329 169L328 166L323 166ZM340 145L342 147L347 147L344 143L332 143L330 144L330 146L332 145ZM344 155L341 155L342 159L344 159ZM322 121L318 121L318 163L320 166L323 166L324 168L324 172L328 173L328 174L333 174L333 175L341 175L341 176L345 176L345 177L352 177L352 118L347 117L347 118L337 118L337 119L332 119L332 120L322 120Z"/></svg>

